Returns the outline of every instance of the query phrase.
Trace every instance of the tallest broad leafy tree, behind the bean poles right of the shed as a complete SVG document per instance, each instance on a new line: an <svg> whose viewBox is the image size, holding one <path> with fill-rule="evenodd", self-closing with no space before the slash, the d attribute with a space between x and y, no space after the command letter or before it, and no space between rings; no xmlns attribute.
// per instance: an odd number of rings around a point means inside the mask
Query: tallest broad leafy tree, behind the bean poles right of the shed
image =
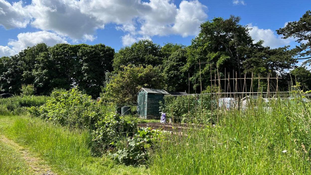
<svg viewBox="0 0 311 175"><path fill-rule="evenodd" d="M248 33L249 29L239 24L240 20L240 17L235 16L230 16L229 19L219 17L201 24L199 35L189 47L188 67L190 72L192 70L198 72L198 62L201 61L201 71L204 72L202 80L208 82L204 87L210 85L208 80L211 66L212 69L218 68L220 73L224 73L226 69L231 76L233 72L237 72L238 78L242 78L242 63L248 59L244 50L253 47L253 39ZM199 74L195 75L197 80ZM241 90L243 83L238 83L238 88Z"/></svg>

